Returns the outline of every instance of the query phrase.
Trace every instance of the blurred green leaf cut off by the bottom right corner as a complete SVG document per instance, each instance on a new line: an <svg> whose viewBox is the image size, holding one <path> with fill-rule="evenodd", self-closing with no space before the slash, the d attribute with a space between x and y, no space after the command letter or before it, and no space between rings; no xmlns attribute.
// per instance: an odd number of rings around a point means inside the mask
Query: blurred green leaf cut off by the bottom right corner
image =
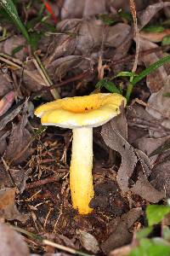
<svg viewBox="0 0 170 256"><path fill-rule="evenodd" d="M139 247L133 248L130 256L169 256L170 247L161 244L155 244L153 241L143 238Z"/></svg>

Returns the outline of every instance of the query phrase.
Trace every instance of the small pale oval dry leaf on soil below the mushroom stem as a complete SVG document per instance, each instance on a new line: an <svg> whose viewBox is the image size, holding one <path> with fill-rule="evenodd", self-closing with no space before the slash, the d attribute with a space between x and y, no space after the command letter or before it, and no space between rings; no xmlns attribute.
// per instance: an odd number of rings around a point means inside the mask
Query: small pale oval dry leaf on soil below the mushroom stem
<svg viewBox="0 0 170 256"><path fill-rule="evenodd" d="M92 253L99 253L99 242L94 236L84 230L76 230L79 241L86 250Z"/></svg>

